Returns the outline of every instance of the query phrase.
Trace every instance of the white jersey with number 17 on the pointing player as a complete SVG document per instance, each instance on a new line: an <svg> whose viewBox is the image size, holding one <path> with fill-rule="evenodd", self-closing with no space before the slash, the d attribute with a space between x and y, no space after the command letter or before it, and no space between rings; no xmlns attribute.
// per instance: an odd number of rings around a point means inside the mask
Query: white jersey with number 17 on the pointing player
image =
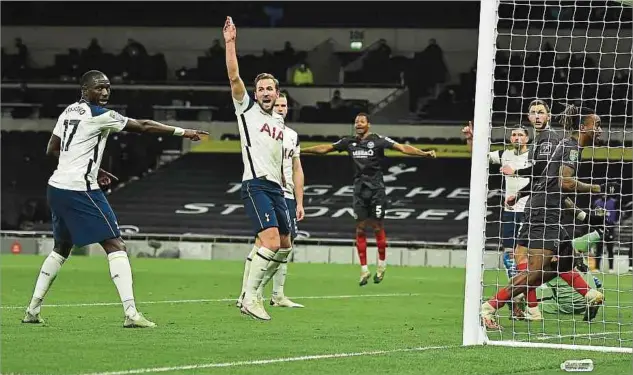
<svg viewBox="0 0 633 375"><path fill-rule="evenodd" d="M61 138L57 169L48 180L59 189L99 189L97 173L111 132L123 130L128 118L115 111L79 101L66 107L53 134Z"/></svg>

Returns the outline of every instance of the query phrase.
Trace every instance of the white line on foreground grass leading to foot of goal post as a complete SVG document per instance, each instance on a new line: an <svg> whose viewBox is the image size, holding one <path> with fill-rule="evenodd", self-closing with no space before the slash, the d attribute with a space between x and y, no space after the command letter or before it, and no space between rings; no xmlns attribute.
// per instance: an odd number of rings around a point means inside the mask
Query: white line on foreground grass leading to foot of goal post
<svg viewBox="0 0 633 375"><path fill-rule="evenodd" d="M450 348L457 348L457 346L425 346L425 347L419 347L419 348L405 348L405 349L392 349L392 350L372 350L372 351L356 352L356 353L318 354L318 355L306 355L306 356L301 356L301 357L259 359L259 360L252 360L252 361L223 362L223 363L204 363L204 364L197 364L197 365L184 365L184 366L173 366L173 367L153 367L153 368L141 368L141 369L133 369L133 370L122 370L122 371L93 372L93 373L85 373L85 374L81 374L81 375L147 374L147 373L153 373L153 372L199 370L199 369L217 368L217 367L237 367L237 366L252 366L252 365L268 365L268 364L271 364L271 363L314 361L314 360L320 360L320 359L374 356L374 355L384 355L384 354L392 354L392 353L405 353L405 352L422 352L422 351L427 351L427 350L434 350L434 349L441 350L441 349L450 349Z"/></svg>

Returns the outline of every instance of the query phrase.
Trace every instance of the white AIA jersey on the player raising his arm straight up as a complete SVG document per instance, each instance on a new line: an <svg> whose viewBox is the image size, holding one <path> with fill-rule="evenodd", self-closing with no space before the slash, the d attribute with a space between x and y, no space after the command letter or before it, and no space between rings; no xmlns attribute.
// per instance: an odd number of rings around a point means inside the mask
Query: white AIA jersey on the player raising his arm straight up
<svg viewBox="0 0 633 375"><path fill-rule="evenodd" d="M241 103L233 99L233 105L242 144L242 181L262 178L283 186L284 118L266 113L248 94Z"/></svg>

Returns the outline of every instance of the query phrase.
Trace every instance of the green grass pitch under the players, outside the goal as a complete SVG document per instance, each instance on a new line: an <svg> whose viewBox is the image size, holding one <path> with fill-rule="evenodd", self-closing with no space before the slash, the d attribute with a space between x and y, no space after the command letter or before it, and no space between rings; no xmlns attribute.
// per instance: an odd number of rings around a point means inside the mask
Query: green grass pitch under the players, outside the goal
<svg viewBox="0 0 633 375"><path fill-rule="evenodd" d="M631 373L630 354L460 347L461 269L391 267L360 288L356 266L291 264L286 292L307 307L268 308L273 320L258 322L234 307L241 262L133 259L138 305L158 327L126 330L105 259L66 263L42 326L19 321L43 258L0 260L4 374L554 374L584 358L593 373ZM630 309L620 319L630 324Z"/></svg>

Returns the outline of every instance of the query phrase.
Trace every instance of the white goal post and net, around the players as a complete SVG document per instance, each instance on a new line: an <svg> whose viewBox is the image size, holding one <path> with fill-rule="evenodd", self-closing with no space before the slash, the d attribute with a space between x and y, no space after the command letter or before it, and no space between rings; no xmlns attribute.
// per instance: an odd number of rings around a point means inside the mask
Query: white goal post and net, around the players
<svg viewBox="0 0 633 375"><path fill-rule="evenodd" d="M633 352L633 283L629 269L633 242L631 4L483 0L481 7L464 345ZM508 231L508 225L518 227L521 221L504 212L509 209L503 191L509 185L500 166L489 163L493 161L489 153L501 150L502 155L503 150L514 147L509 136L519 124L527 127L528 144L532 144L536 134L528 112L535 99L547 104L549 125L561 137L572 135L557 121L566 106L573 104L582 107L583 113L593 111L600 116L602 135L582 150L577 176L596 185L617 181L621 191L607 197L567 194L586 213L603 216L600 225L582 224L573 215L561 223L572 238L590 234L590 241L584 242L587 249L575 253L575 269L590 287L604 294L604 303L599 309L588 310L585 298L556 278L537 289L541 319L511 319L511 308L504 306L495 315L503 329L486 329L481 306L509 283L504 248L507 252L508 247L514 247L516 234ZM551 156L557 144L539 152ZM533 160L530 152L528 158ZM527 177L533 181L539 176ZM599 199L602 202L597 202ZM599 238L591 235L594 231ZM600 248L604 260L600 269L594 269ZM613 259L609 260L611 250Z"/></svg>

